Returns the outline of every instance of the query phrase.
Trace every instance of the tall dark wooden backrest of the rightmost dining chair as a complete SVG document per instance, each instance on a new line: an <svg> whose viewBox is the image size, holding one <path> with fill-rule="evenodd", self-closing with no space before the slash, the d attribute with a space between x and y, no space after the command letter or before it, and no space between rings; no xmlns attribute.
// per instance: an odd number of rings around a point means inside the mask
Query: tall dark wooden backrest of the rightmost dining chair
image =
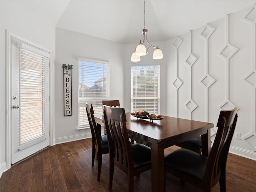
<svg viewBox="0 0 256 192"><path fill-rule="evenodd" d="M205 171L205 180L218 178L222 170L226 169L228 150L234 134L237 121L237 108L221 111L217 123L217 133L210 152Z"/></svg>

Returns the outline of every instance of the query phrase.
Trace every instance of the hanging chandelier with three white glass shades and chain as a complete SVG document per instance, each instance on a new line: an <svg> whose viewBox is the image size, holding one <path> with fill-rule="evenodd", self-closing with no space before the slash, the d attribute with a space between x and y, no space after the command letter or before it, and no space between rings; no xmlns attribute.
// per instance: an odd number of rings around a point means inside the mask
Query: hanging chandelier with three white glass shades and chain
<svg viewBox="0 0 256 192"><path fill-rule="evenodd" d="M140 56L144 56L146 58L146 55L148 54L148 49L150 47L156 48L153 53L153 59L162 59L163 58L162 51L159 49L158 46L151 45L147 39L148 30L145 29L145 0L144 0L144 29L142 29L142 34L143 34L143 41L141 42L140 40L140 44L136 47L135 51L132 54L131 61L132 62L140 61ZM145 40L149 45L147 49L143 44Z"/></svg>

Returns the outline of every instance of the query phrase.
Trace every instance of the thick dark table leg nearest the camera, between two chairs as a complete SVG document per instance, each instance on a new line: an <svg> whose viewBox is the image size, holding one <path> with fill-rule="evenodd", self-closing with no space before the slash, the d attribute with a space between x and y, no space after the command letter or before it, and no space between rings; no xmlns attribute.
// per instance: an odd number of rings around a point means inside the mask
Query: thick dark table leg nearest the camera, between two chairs
<svg viewBox="0 0 256 192"><path fill-rule="evenodd" d="M164 191L164 148L151 144L152 192Z"/></svg>

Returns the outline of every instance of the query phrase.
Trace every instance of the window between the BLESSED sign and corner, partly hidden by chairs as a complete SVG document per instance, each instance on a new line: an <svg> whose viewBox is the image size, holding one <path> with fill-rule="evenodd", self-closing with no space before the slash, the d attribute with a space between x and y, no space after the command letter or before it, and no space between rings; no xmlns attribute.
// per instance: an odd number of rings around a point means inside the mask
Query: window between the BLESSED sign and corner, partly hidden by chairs
<svg viewBox="0 0 256 192"><path fill-rule="evenodd" d="M89 128L86 102L93 105L94 114L102 114L102 100L109 99L109 63L78 58L78 129Z"/></svg>

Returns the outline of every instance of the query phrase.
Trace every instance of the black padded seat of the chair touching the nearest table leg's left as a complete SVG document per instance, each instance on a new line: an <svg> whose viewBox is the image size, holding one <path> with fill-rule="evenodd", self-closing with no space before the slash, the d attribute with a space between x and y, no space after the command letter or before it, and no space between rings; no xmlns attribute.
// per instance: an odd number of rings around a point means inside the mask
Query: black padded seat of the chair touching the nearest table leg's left
<svg viewBox="0 0 256 192"><path fill-rule="evenodd" d="M151 149L149 147L139 143L131 144L130 146L135 169L151 164Z"/></svg>

